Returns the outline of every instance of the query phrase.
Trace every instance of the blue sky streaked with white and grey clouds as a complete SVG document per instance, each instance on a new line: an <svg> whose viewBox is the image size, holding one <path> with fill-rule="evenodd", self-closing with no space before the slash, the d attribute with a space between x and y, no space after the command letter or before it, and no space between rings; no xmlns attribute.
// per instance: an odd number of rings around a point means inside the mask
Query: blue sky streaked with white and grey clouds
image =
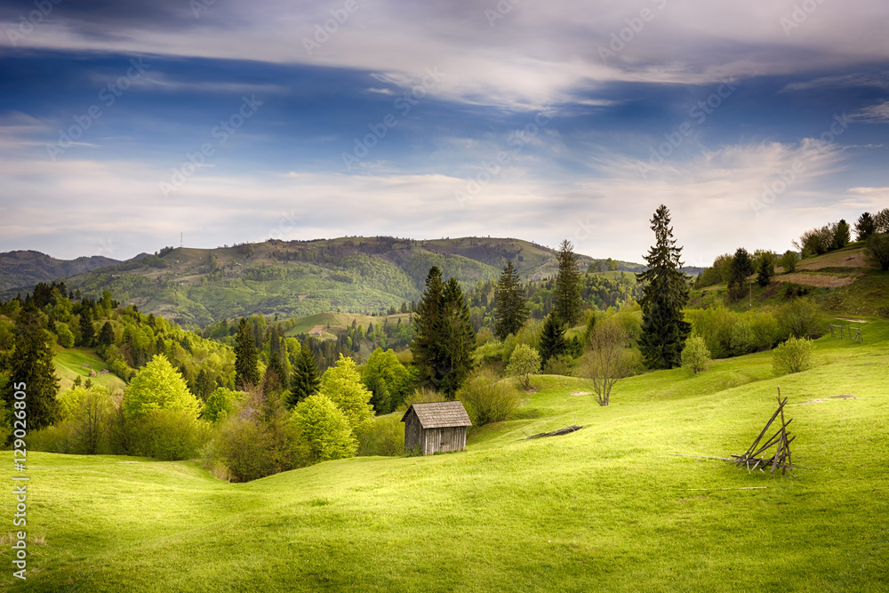
<svg viewBox="0 0 889 593"><path fill-rule="evenodd" d="M0 4L0 251L517 237L686 265L889 207L885 0Z"/></svg>

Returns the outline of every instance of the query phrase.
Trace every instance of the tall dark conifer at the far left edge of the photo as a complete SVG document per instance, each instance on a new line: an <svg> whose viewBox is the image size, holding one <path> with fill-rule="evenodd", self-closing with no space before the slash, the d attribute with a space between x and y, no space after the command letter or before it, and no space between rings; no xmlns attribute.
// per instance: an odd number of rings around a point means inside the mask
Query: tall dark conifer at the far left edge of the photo
<svg viewBox="0 0 889 593"><path fill-rule="evenodd" d="M28 430L42 429L56 420L59 413L56 394L59 378L52 365L52 349L47 341L44 319L32 303L21 309L15 327L15 341L9 363L10 388L4 389L8 410L20 410L16 403L25 402ZM24 391L24 400L14 393Z"/></svg>

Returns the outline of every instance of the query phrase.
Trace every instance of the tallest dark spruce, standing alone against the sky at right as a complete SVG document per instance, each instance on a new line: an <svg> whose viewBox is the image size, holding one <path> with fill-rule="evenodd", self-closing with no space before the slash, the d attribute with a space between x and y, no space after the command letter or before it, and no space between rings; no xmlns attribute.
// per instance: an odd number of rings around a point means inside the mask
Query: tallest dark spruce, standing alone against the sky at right
<svg viewBox="0 0 889 593"><path fill-rule="evenodd" d="M681 271L682 248L676 246L669 223L669 210L661 204L652 219L655 244L645 256L648 269L638 276L644 283L639 301L642 306L639 349L645 363L654 369L680 365L685 338L691 331L683 314L689 288Z"/></svg>

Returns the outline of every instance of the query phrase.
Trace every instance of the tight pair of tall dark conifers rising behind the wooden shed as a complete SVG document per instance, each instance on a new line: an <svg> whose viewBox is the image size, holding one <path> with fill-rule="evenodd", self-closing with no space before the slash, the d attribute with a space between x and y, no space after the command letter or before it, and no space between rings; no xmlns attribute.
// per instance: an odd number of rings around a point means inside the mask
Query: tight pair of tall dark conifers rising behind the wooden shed
<svg viewBox="0 0 889 593"><path fill-rule="evenodd" d="M469 306L455 278L441 280L441 270L429 269L426 290L413 315L411 343L414 364L422 378L453 399L472 367L476 333Z"/></svg>

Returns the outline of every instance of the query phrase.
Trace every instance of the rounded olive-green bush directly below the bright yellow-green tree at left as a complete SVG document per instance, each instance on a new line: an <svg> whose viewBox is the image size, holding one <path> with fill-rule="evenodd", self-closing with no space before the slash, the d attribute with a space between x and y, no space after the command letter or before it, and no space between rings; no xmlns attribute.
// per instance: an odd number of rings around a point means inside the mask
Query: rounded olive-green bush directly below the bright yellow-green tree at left
<svg viewBox="0 0 889 593"><path fill-rule="evenodd" d="M154 410L130 421L131 453L161 461L195 458L210 427L188 410Z"/></svg>

